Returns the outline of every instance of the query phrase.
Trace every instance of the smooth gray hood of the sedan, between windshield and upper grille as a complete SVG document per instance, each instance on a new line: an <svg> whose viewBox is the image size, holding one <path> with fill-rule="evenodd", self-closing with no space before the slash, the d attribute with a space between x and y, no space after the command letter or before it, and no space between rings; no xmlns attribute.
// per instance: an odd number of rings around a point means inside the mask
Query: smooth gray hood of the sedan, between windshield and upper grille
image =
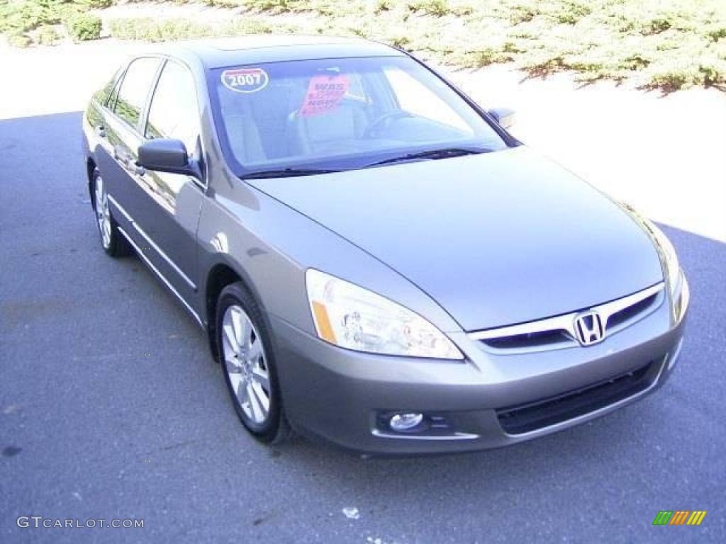
<svg viewBox="0 0 726 544"><path fill-rule="evenodd" d="M526 147L251 183L405 276L466 331L588 308L663 279L627 213Z"/></svg>

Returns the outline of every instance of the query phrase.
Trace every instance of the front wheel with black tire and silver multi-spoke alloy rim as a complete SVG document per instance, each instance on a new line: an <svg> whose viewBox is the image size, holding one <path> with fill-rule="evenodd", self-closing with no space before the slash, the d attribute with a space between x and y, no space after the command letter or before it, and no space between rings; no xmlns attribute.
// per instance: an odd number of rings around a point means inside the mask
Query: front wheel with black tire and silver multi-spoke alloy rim
<svg viewBox="0 0 726 544"><path fill-rule="evenodd" d="M229 397L242 424L260 442L285 440L289 427L272 342L261 310L242 282L219 294L216 342Z"/></svg>

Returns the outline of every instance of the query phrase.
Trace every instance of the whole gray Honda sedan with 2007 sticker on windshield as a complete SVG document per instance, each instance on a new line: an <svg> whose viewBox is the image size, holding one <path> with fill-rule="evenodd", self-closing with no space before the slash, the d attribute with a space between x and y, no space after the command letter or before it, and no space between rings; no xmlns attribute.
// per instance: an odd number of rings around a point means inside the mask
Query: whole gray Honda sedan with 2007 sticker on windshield
<svg viewBox="0 0 726 544"><path fill-rule="evenodd" d="M83 152L103 249L208 334L254 437L439 453L639 400L682 344L666 236L511 120L390 46L249 36L130 59Z"/></svg>

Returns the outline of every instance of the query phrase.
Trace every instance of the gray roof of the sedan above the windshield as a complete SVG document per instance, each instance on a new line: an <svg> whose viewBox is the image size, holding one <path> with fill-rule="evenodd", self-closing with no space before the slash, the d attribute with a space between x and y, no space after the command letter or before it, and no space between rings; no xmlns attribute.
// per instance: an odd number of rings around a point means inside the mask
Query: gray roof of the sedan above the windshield
<svg viewBox="0 0 726 544"><path fill-rule="evenodd" d="M362 38L261 34L168 42L155 51L170 57L201 62L206 68L261 62L341 57L391 57L404 53Z"/></svg>

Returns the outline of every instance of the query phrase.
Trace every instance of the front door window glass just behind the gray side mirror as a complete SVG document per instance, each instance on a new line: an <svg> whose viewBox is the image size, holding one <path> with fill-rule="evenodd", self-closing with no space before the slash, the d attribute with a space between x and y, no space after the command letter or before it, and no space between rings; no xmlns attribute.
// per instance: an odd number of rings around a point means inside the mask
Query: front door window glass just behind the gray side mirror
<svg viewBox="0 0 726 544"><path fill-rule="evenodd" d="M166 62L151 99L146 138L176 138L194 154L199 136L199 107L194 78L187 68Z"/></svg>

